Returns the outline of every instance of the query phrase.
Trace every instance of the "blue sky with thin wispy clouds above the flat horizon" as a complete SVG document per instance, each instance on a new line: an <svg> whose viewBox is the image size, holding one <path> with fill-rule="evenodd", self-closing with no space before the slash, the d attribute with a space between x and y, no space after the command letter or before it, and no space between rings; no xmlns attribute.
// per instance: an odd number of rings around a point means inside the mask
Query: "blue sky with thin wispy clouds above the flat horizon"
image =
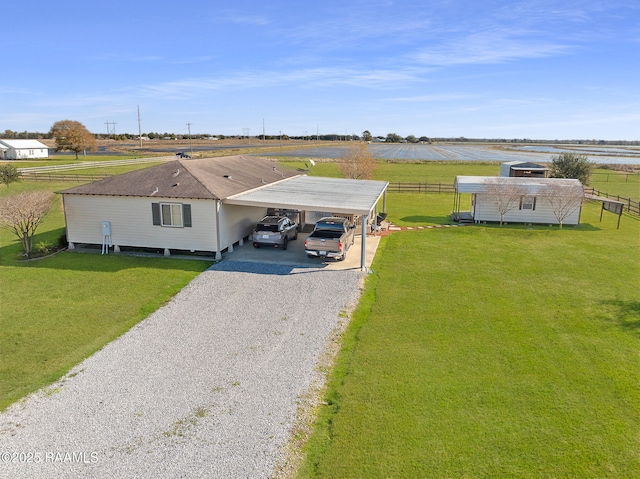
<svg viewBox="0 0 640 479"><path fill-rule="evenodd" d="M4 5L0 131L640 139L637 0Z"/></svg>

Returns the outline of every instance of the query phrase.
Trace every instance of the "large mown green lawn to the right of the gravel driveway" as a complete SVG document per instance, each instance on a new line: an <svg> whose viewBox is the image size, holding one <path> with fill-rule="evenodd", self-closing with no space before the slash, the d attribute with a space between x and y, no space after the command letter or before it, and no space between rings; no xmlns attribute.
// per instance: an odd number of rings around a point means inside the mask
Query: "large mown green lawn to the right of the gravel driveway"
<svg viewBox="0 0 640 479"><path fill-rule="evenodd" d="M598 220L383 238L299 476L640 477L640 221Z"/></svg>

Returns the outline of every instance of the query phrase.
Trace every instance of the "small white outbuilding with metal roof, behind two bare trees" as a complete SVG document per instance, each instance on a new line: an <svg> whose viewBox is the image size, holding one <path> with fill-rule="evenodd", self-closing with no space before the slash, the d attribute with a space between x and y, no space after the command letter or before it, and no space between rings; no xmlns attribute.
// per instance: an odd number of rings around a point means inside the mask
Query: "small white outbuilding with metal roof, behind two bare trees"
<svg viewBox="0 0 640 479"><path fill-rule="evenodd" d="M577 225L584 189L566 178L457 176L452 217L460 222L507 222ZM469 211L461 211L462 195Z"/></svg>

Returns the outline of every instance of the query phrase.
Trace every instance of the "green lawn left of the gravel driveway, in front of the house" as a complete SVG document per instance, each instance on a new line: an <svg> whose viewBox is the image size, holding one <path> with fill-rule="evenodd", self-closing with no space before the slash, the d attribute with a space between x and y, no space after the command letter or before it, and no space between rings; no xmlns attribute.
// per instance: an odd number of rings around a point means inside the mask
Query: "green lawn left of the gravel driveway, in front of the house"
<svg viewBox="0 0 640 479"><path fill-rule="evenodd" d="M13 183L0 195L69 183ZM64 235L59 195L34 245ZM0 229L0 410L64 375L175 295L210 263L65 252L20 261Z"/></svg>

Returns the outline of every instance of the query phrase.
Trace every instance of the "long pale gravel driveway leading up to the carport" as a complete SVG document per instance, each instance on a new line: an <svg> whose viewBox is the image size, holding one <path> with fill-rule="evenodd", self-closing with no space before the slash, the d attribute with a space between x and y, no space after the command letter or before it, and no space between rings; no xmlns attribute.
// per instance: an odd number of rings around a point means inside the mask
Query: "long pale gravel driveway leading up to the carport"
<svg viewBox="0 0 640 479"><path fill-rule="evenodd" d="M270 477L362 273L223 261L0 415L0 476Z"/></svg>

